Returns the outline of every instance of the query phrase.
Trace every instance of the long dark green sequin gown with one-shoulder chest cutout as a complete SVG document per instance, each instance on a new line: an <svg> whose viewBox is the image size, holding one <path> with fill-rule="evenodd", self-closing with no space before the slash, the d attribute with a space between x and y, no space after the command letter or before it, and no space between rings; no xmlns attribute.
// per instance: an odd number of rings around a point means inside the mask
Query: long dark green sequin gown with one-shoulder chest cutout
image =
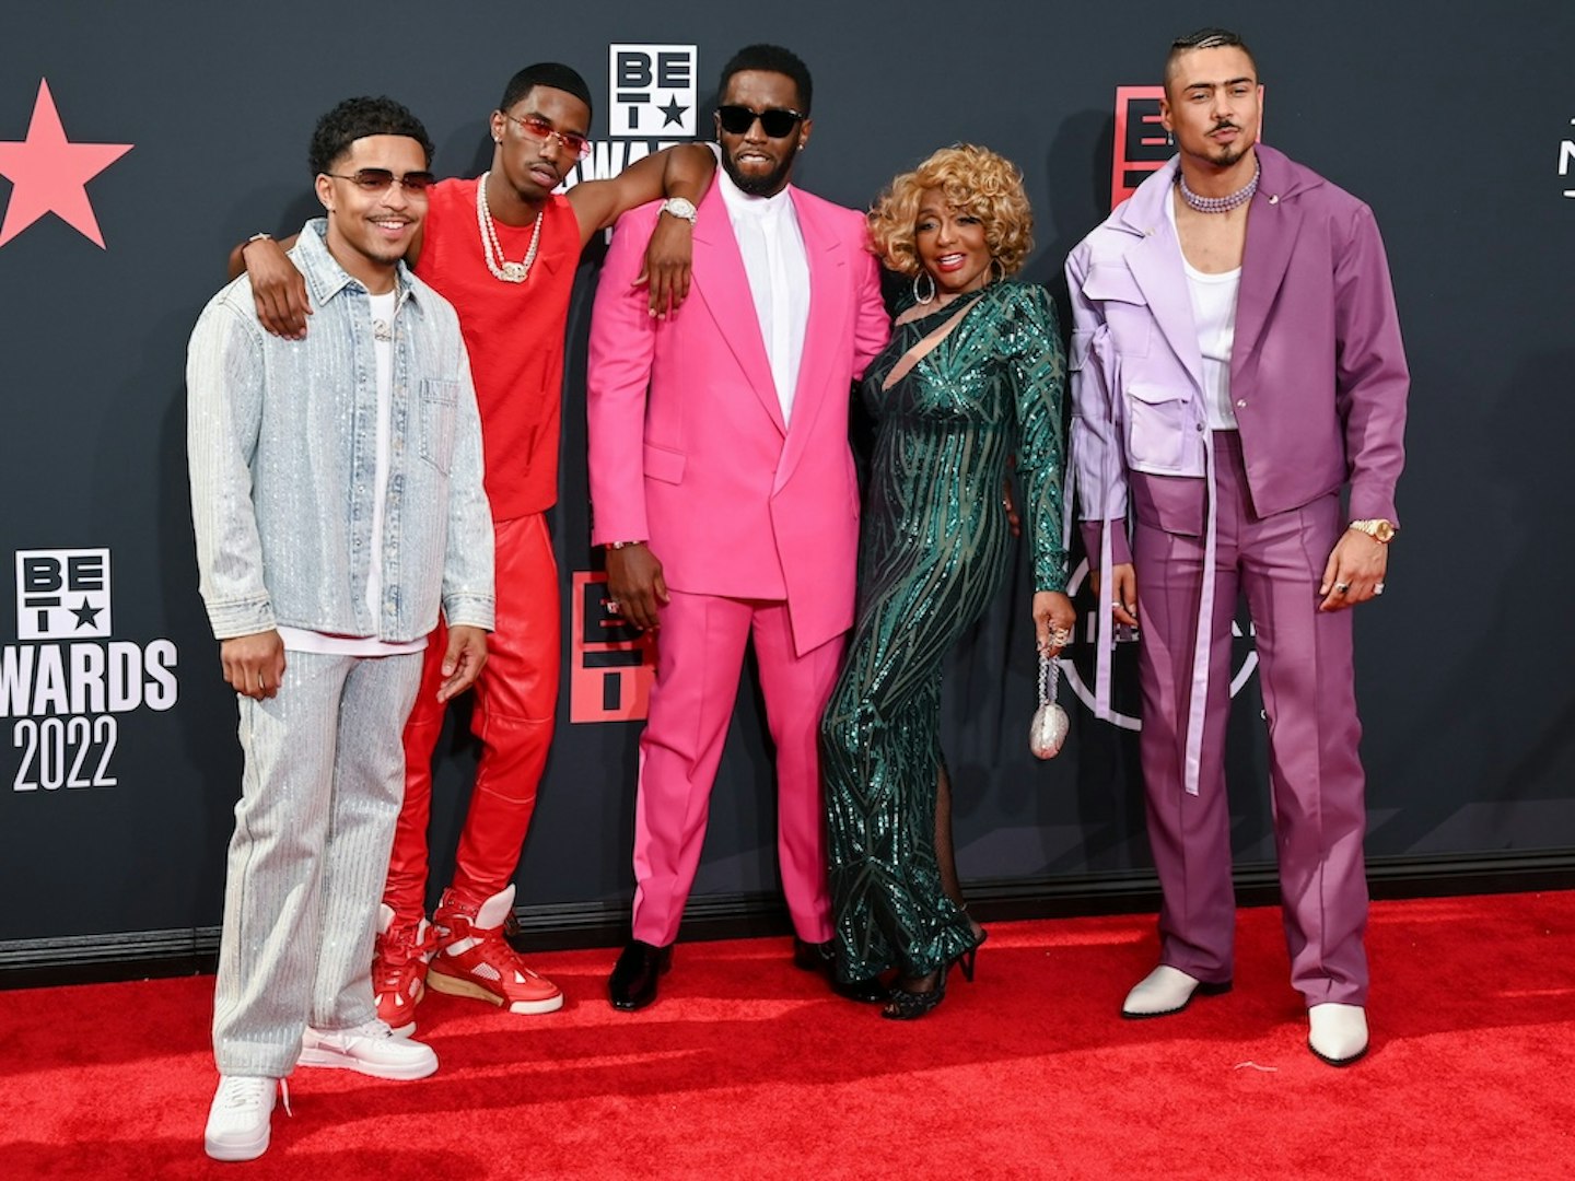
<svg viewBox="0 0 1575 1181"><path fill-rule="evenodd" d="M901 357L964 318L882 389ZM997 282L893 329L865 376L876 422L858 545L858 609L821 724L838 973L923 976L976 943L936 861L940 668L1006 568L1002 505L1016 454L1036 590L1066 586L1055 309ZM1027 603L1022 605L1027 609Z"/></svg>

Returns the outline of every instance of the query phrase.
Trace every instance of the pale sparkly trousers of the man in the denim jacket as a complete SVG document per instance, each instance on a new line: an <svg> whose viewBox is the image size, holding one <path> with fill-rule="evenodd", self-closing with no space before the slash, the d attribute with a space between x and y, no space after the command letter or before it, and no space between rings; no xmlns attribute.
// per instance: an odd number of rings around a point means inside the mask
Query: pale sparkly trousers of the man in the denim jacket
<svg viewBox="0 0 1575 1181"><path fill-rule="evenodd" d="M306 1025L376 1016L372 942L422 657L285 660L277 696L238 698L246 767L214 989L220 1074L285 1077Z"/></svg>

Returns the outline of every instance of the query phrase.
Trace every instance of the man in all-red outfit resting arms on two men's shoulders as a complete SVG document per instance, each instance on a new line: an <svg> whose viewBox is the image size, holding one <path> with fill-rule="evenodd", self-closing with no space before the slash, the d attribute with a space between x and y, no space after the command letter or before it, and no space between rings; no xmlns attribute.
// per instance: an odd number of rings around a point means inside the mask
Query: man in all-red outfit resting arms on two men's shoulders
<svg viewBox="0 0 1575 1181"><path fill-rule="evenodd" d="M406 255L416 274L458 310L471 354L496 531L498 620L471 716L482 743L480 765L454 880L430 924L432 754L450 696L444 682L452 674L441 620L405 726L405 805L372 968L378 1016L400 1033L416 1028L414 1006L428 983L509 1013L551 1013L564 1003L558 986L531 972L504 940L504 923L513 910L513 872L558 704L559 589L547 510L558 498L569 296L591 235L665 192L673 200L660 231L669 242L666 249L654 242L647 257L684 261L652 271L654 310L669 293L680 296L691 202L715 168L706 146L684 145L613 180L554 194L589 151L589 128L591 91L580 74L558 63L521 69L491 113L491 168L477 180L449 180L430 189L424 233ZM282 250L257 238L233 261L243 260L263 323L280 335L304 335L306 291ZM416 394L413 413L441 392Z"/></svg>

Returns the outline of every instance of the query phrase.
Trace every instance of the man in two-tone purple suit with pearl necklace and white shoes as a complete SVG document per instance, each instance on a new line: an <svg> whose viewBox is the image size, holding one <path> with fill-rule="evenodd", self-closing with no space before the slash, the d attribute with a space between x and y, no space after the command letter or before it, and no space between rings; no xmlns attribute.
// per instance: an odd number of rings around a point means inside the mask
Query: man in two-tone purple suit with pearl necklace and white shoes
<svg viewBox="0 0 1575 1181"><path fill-rule="evenodd" d="M1410 378L1372 211L1257 143L1262 87L1241 38L1177 41L1164 82L1177 159L1066 261L1080 516L1109 603L1102 652L1114 625L1142 620L1140 750L1164 893L1159 967L1121 1013L1180 1013L1230 987L1224 745L1244 592L1292 984L1309 1047L1343 1066L1367 1049L1350 608L1383 594Z"/></svg>

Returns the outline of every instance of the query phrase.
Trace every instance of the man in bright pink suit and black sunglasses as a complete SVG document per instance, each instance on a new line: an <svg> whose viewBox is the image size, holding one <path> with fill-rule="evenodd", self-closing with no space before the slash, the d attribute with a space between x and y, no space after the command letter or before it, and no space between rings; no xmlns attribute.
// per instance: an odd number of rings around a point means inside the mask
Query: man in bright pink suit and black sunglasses
<svg viewBox="0 0 1575 1181"><path fill-rule="evenodd" d="M606 546L617 609L660 628L633 940L608 979L619 1009L655 1000L671 964L751 638L776 746L794 961L830 965L816 735L854 619L849 391L888 320L863 216L788 184L810 142L808 69L750 46L720 93L710 191L698 211L669 200L621 220L591 329L591 540ZM663 214L695 217L693 299L655 320L632 282Z"/></svg>

